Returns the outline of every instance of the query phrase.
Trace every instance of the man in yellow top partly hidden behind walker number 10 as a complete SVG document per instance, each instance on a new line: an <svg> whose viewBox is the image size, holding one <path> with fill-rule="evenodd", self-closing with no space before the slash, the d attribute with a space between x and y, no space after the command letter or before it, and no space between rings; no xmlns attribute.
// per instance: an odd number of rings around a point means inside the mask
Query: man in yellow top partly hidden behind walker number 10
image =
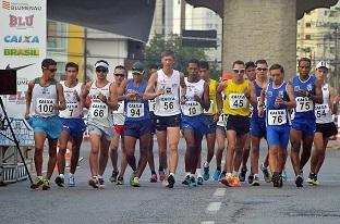
<svg viewBox="0 0 340 224"><path fill-rule="evenodd" d="M204 110L204 116L209 123L209 133L206 134L207 140L207 161L203 164L203 178L204 181L208 181L209 175L209 163L212 160L214 151L215 151L215 141L216 141L216 122L218 121L217 115L217 102L216 102L216 89L217 82L209 76L209 63L206 61L199 62L199 75L203 80L205 80L209 86L209 99L210 99L210 108L208 110ZM196 173L198 175L197 183L202 183L201 176L201 157L197 164Z"/></svg>

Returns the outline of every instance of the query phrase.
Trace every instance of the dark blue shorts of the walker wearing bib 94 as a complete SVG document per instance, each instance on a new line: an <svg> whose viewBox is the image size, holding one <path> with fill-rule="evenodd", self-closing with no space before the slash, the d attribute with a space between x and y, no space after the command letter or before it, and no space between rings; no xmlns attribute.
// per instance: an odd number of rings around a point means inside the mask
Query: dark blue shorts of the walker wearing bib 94
<svg viewBox="0 0 340 224"><path fill-rule="evenodd" d="M151 121L136 121L136 122L125 122L124 124L124 136L131 136L134 138L141 138L145 134L150 134Z"/></svg>

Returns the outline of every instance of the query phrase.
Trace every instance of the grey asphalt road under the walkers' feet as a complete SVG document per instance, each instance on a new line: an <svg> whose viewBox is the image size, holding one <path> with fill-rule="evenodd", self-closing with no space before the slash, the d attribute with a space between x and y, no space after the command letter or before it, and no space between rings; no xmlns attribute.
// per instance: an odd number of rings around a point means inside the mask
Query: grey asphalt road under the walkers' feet
<svg viewBox="0 0 340 224"><path fill-rule="evenodd" d="M85 142L75 188L60 188L52 183L49 191L32 190L28 181L0 187L0 223L340 223L339 150L327 151L319 174L320 186L305 184L304 188L296 188L288 160L289 181L278 189L265 183L262 175L258 187L243 184L240 188L228 188L212 181L196 188L183 186L183 139L180 149L173 189L160 183L148 183L148 167L139 188L127 183L117 186L108 182L109 165L106 188L96 190L86 183L89 145ZM262 146L262 158L265 153L266 147ZM157 152L155 158L157 165ZM210 166L215 169L215 161ZM305 174L308 167L309 164L304 170ZM130 173L129 169L125 179Z"/></svg>

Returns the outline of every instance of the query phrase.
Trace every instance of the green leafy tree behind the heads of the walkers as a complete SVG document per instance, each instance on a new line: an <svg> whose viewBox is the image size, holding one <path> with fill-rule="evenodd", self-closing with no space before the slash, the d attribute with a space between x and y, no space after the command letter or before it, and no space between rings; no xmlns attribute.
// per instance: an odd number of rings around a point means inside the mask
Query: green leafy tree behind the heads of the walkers
<svg viewBox="0 0 340 224"><path fill-rule="evenodd" d="M186 65L191 59L207 60L203 48L182 47L182 39L179 35L172 34L169 39L165 39L163 35L156 34L149 45L145 47L146 66L157 64L160 67L160 54L166 50L174 52L174 67L184 73L186 73Z"/></svg>

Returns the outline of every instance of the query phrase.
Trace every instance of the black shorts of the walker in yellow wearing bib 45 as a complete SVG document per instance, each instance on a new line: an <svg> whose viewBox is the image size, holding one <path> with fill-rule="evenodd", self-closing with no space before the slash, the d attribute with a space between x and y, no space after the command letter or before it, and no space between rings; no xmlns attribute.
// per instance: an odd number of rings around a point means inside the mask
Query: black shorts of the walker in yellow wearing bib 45
<svg viewBox="0 0 340 224"><path fill-rule="evenodd" d="M250 117L240 115L229 115L226 120L226 129L235 130L236 135L245 135L250 132Z"/></svg>

